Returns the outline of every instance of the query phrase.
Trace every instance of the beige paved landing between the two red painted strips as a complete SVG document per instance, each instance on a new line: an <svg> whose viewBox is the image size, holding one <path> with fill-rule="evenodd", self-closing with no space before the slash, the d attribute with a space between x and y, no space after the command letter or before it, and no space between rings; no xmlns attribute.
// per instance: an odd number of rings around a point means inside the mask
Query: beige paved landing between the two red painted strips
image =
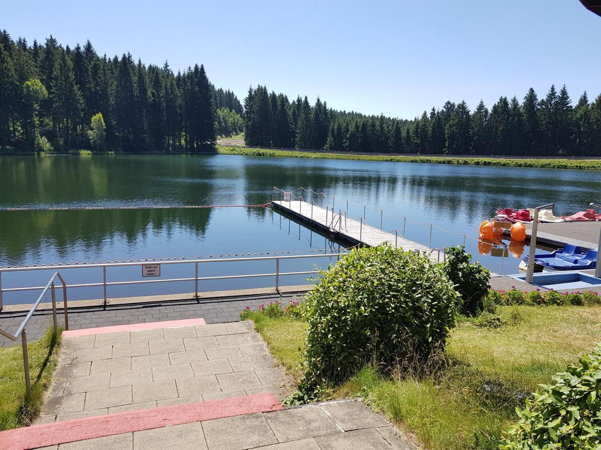
<svg viewBox="0 0 601 450"><path fill-rule="evenodd" d="M192 322L199 325L64 332L38 423L291 391L252 322Z"/></svg>

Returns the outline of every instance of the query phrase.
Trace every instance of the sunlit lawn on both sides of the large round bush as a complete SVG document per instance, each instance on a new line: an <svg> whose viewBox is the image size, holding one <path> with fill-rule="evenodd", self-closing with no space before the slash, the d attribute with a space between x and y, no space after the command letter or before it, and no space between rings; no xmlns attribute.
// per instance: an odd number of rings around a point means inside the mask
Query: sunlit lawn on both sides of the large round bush
<svg viewBox="0 0 601 450"><path fill-rule="evenodd" d="M601 341L601 308L513 306L498 313L507 325L460 322L453 329L444 371L394 379L367 367L335 397L367 398L430 450L498 448L525 395ZM278 362L298 379L304 322L261 314L251 319Z"/></svg>

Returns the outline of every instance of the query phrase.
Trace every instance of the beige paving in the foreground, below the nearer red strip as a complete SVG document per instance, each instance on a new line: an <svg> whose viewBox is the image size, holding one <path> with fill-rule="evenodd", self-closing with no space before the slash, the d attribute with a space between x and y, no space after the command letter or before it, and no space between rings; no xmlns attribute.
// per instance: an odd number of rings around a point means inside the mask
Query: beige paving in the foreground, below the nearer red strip
<svg viewBox="0 0 601 450"><path fill-rule="evenodd" d="M52 450L410 450L382 416L359 401L327 402L46 447Z"/></svg>

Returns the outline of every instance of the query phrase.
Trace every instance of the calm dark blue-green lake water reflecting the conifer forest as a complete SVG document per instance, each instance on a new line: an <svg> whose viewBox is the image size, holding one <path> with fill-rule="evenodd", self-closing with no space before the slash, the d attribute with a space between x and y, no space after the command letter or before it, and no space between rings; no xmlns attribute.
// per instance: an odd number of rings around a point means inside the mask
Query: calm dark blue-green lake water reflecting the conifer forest
<svg viewBox="0 0 601 450"><path fill-rule="evenodd" d="M340 199L434 222L456 233L478 235L478 226L498 208L529 208L555 202L557 214L584 210L599 201L601 172L520 167L453 166L376 161L211 156L0 157L0 206L258 205L272 199L272 187L299 186ZM316 201L320 199L316 197ZM331 200L328 200L328 204ZM335 209L346 209L337 200ZM363 214L349 206L349 217ZM380 212L367 212L380 224ZM383 229L402 229L403 220L383 216ZM407 221L406 237L427 244L430 227ZM463 236L434 229L433 247L461 244ZM499 271L500 257L481 256ZM331 251L335 244L269 208L146 209L108 211L0 212L0 265L97 262L152 257ZM487 250L481 248L480 250ZM516 253L519 248L515 249ZM503 273L516 273L518 258L505 257ZM282 271L325 267L329 258L282 262ZM193 277L193 265L174 265L162 276ZM215 263L203 274L275 271L275 263ZM109 269L109 281L140 278L140 268ZM3 287L46 284L51 272L4 274ZM102 281L102 269L63 271L68 283ZM307 275L282 278L303 284ZM214 280L201 291L273 286L273 278ZM190 292L193 283L112 286L109 297ZM99 298L100 288L72 290L70 298ZM35 293L5 293L4 302L31 302Z"/></svg>

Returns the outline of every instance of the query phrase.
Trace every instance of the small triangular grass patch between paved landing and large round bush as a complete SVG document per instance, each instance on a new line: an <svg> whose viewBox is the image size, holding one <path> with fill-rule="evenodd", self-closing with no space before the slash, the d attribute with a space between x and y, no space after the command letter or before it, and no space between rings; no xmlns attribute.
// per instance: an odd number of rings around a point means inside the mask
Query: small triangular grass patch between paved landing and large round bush
<svg viewBox="0 0 601 450"><path fill-rule="evenodd" d="M273 358L284 366L286 373L297 383L302 377L307 323L287 317L272 319L259 313L252 313L250 319L269 346Z"/></svg>

